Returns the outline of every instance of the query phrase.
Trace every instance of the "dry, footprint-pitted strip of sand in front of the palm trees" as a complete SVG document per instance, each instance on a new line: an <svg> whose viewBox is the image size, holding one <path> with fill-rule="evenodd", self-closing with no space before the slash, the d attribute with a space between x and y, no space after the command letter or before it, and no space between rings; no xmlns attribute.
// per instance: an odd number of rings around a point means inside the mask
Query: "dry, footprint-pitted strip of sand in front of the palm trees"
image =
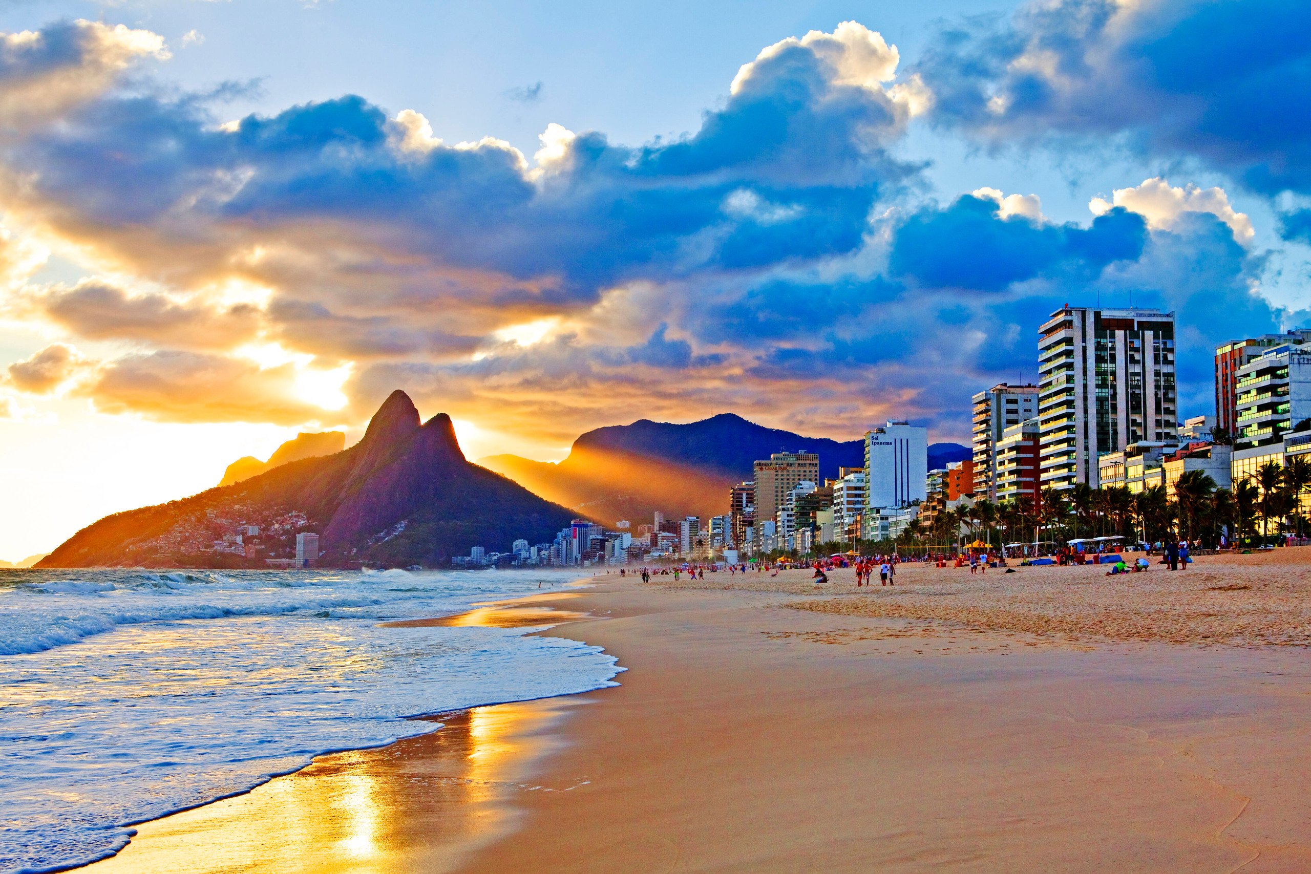
<svg viewBox="0 0 1311 874"><path fill-rule="evenodd" d="M1156 560L1152 560L1154 562ZM1068 641L1168 641L1311 646L1311 546L1269 556L1202 556L1186 571L1152 563L1145 573L1106 575L1105 566L990 569L898 566L897 586L855 586L850 570L817 588L812 571L749 573L724 580L656 584L679 588L724 583L737 588L815 595L789 607L856 617L936 620L968 628L1021 632Z"/></svg>

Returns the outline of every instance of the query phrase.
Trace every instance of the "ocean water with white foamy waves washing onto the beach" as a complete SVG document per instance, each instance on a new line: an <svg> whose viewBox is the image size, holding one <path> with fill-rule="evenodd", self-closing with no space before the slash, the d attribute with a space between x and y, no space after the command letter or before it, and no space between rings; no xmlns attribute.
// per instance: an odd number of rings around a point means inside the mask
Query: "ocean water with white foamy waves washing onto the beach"
<svg viewBox="0 0 1311 874"><path fill-rule="evenodd" d="M532 629L383 628L558 588L527 570L0 570L0 871L104 858L131 824L408 717L615 685L599 647Z"/></svg>

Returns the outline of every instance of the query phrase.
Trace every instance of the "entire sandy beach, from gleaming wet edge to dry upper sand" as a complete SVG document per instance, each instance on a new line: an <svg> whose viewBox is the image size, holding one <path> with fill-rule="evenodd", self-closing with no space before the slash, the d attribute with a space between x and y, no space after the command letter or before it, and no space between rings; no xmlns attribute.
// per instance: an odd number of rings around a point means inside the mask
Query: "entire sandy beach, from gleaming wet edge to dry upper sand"
<svg viewBox="0 0 1311 874"><path fill-rule="evenodd" d="M547 634L628 672L321 757L90 867L1311 870L1311 549L1017 571L603 575L442 620L560 611Z"/></svg>

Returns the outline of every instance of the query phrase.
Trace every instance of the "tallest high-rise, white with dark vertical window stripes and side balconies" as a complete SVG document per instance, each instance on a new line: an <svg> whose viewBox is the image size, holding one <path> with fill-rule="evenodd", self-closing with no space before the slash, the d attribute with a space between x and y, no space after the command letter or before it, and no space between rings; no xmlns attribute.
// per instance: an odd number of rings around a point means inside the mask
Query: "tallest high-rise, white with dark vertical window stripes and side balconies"
<svg viewBox="0 0 1311 874"><path fill-rule="evenodd" d="M1175 313L1066 307L1038 329L1042 487L1097 487L1097 456L1176 440Z"/></svg>

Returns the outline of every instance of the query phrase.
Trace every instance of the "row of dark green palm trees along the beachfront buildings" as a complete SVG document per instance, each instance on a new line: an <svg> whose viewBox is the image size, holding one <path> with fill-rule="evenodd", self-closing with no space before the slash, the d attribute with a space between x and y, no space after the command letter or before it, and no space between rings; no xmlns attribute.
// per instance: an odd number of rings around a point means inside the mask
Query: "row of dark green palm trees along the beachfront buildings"
<svg viewBox="0 0 1311 874"><path fill-rule="evenodd" d="M1066 541L1074 537L1118 535L1156 542L1177 536L1215 545L1255 541L1283 531L1306 532L1302 498L1311 491L1311 461L1290 459L1268 463L1232 489L1218 487L1202 470L1186 470L1175 484L1131 493L1124 486L1068 490L1044 489L1041 499L975 501L970 506L939 511L931 525L919 519L903 532L905 544L954 542L964 533L994 546L1008 541Z"/></svg>

